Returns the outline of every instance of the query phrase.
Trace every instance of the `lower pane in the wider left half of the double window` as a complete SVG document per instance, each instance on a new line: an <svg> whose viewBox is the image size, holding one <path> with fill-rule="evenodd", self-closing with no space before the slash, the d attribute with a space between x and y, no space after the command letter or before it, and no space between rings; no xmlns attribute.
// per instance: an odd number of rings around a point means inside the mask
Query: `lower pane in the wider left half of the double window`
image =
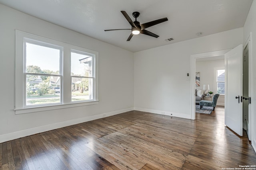
<svg viewBox="0 0 256 170"><path fill-rule="evenodd" d="M26 106L60 103L60 76L26 75Z"/></svg>

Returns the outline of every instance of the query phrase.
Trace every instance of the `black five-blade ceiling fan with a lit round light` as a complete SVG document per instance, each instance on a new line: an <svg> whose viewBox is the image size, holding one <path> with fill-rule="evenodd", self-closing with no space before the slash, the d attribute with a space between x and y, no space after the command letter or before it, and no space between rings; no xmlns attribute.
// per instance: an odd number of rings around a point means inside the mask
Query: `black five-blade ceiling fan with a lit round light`
<svg viewBox="0 0 256 170"><path fill-rule="evenodd" d="M145 28L151 27L151 26L156 25L158 23L162 23L164 21L168 21L167 18L162 18L162 19L159 19L159 20L154 20L154 21L150 21L150 22L147 22L147 23L140 24L140 22L137 21L137 18L140 16L139 12L133 12L132 13L132 16L135 18L135 21L132 21L131 18L128 16L128 14L125 11L121 11L121 12L124 15L124 17L126 18L126 20L132 26L132 28L130 29L130 30L132 30L132 33L130 34L130 36L128 37L128 39L126 41L130 41L130 39L132 38L133 35L138 35L139 33L157 38L157 37L159 37L158 35L150 32L150 31L147 31ZM126 29L105 29L104 31L114 31L114 30L126 30Z"/></svg>

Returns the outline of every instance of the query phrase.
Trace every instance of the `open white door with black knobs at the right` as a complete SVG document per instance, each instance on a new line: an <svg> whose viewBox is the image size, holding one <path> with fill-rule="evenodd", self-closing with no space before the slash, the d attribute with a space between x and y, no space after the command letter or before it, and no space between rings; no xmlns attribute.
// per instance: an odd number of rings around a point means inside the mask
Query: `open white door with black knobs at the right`
<svg viewBox="0 0 256 170"><path fill-rule="evenodd" d="M225 125L240 136L243 135L242 56L242 44L225 54Z"/></svg>

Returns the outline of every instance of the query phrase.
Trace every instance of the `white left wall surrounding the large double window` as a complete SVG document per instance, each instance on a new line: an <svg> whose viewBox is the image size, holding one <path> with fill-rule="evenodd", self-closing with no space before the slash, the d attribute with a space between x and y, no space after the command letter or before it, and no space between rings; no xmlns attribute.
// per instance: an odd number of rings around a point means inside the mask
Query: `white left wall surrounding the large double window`
<svg viewBox="0 0 256 170"><path fill-rule="evenodd" d="M133 53L0 4L0 143L133 110ZM99 52L99 104L15 115L15 29ZM22 63L21 63L22 64ZM65 69L65 68L64 68Z"/></svg>

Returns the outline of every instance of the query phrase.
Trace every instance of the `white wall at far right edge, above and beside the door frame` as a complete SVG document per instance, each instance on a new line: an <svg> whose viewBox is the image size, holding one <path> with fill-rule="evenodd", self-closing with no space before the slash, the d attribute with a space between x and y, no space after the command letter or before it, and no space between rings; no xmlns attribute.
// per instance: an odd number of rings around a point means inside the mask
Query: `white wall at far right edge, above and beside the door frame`
<svg viewBox="0 0 256 170"><path fill-rule="evenodd" d="M246 39L250 35L250 32L252 32L252 92L251 92L251 98L252 98L252 121L251 121L251 135L252 135L252 146L254 147L254 150L256 150L256 1L254 0L252 2L252 6L250 8L250 11L248 13L246 22L244 23L244 43L246 42Z"/></svg>

